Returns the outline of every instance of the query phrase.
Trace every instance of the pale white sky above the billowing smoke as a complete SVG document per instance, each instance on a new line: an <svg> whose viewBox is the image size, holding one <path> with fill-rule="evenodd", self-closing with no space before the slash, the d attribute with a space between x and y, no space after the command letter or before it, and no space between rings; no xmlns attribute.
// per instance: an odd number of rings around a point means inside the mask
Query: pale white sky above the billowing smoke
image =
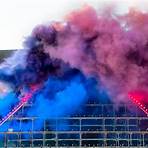
<svg viewBox="0 0 148 148"><path fill-rule="evenodd" d="M0 50L22 49L36 25L62 21L68 12L85 4L97 10L114 5L121 14L130 7L148 10L148 0L0 0Z"/></svg>

